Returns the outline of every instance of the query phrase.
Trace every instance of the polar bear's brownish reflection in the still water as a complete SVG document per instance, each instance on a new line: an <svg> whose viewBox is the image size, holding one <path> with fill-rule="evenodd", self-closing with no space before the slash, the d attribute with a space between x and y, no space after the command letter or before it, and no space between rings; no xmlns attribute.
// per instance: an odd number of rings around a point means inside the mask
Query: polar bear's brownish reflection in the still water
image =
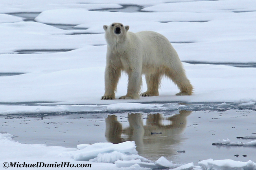
<svg viewBox="0 0 256 170"><path fill-rule="evenodd" d="M181 133L186 128L187 116L191 111L181 110L177 115L164 117L162 114L128 114L128 127L118 121L116 115L106 118L105 136L108 142L121 143L135 141L140 155L177 154L177 146L182 143ZM146 121L144 121L146 119Z"/></svg>

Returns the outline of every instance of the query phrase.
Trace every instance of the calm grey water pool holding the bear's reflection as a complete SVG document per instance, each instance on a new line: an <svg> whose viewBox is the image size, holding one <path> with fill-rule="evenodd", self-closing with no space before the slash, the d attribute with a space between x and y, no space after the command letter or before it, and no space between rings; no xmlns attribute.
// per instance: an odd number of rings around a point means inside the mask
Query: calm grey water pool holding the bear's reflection
<svg viewBox="0 0 256 170"><path fill-rule="evenodd" d="M256 162L256 147L212 145L223 139L253 141L236 137L256 136L255 127L255 110L0 116L0 131L14 135L20 143L76 148L77 144L135 141L139 155L147 159L164 156L173 163L195 165L210 158Z"/></svg>

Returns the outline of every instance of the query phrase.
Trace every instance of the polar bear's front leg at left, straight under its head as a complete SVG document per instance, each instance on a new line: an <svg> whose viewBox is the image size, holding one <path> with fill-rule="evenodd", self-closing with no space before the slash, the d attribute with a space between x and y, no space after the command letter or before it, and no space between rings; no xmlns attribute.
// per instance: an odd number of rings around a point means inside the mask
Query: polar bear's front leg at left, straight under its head
<svg viewBox="0 0 256 170"><path fill-rule="evenodd" d="M113 66L107 66L105 69L105 93L101 100L115 99L115 91L118 80L121 76L121 69Z"/></svg>

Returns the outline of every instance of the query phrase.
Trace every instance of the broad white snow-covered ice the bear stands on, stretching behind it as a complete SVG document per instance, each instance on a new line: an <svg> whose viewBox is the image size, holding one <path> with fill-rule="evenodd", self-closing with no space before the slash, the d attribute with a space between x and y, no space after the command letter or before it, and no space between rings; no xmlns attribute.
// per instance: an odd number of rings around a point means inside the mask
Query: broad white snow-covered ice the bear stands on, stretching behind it
<svg viewBox="0 0 256 170"><path fill-rule="evenodd" d="M2 2L0 12L5 14L0 15L0 36L4 40L0 44L0 73L20 75L0 77L0 102L54 102L58 105L177 101L241 104L246 100L255 106L255 68L210 64L256 63L255 2L173 2L138 1L136 4L144 6L144 11L154 12L137 13L90 11L122 7L114 0L109 4L100 1L87 4L79 0ZM24 17L25 12L37 12L36 22L24 22L21 20L26 18L18 17L18 14L6 14L21 12ZM158 97L101 101L106 55L102 26L112 22L129 25L133 32L151 30L162 33L173 43L182 61L209 63L183 63L194 86L194 94L175 96L178 88L164 78ZM60 29L56 24L71 28ZM19 54L22 50L24 54ZM32 52L26 53L26 50ZM47 50L69 51L53 53ZM126 94L126 87L127 76L123 74L117 98ZM145 90L144 80L142 91Z"/></svg>

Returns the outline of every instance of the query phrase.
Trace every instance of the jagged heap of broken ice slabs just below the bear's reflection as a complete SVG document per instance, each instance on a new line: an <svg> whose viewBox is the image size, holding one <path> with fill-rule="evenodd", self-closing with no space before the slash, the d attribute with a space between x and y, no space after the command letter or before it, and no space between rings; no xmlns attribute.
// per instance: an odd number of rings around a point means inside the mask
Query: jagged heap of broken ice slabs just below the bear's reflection
<svg viewBox="0 0 256 170"><path fill-rule="evenodd" d="M80 144L77 146L77 148L80 150L68 152L68 155L70 155L76 161L113 163L118 168L131 166L139 166L142 168L151 169L157 168L157 165L155 165L153 161L138 155L138 152L135 149L136 145L131 141L119 144Z"/></svg>

